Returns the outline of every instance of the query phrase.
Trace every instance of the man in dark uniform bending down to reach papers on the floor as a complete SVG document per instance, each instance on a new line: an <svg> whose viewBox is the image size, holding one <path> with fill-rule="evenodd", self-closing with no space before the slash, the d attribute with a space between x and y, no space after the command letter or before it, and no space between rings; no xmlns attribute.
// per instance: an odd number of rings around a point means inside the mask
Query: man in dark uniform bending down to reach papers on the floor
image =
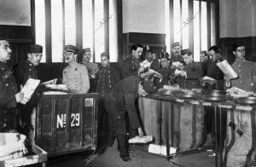
<svg viewBox="0 0 256 167"><path fill-rule="evenodd" d="M113 143L113 136L117 136L119 143L120 157L124 161L129 161L126 139L125 115L128 115L129 122L133 130L138 130L138 134L143 136L142 125L137 115L136 101L139 95L154 93L154 83L150 80L140 81L138 77L131 76L119 81L111 89L105 98L105 107L109 117L109 144Z"/></svg>

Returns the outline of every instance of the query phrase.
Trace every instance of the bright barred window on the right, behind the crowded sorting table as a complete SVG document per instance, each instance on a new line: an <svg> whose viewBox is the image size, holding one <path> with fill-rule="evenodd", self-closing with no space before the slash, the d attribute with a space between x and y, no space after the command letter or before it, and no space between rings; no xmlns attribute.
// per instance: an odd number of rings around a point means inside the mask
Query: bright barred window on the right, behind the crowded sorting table
<svg viewBox="0 0 256 167"><path fill-rule="evenodd" d="M191 49L194 60L200 51L216 44L216 5L212 0L166 1L166 51L179 42L183 49ZM169 39L168 39L169 38Z"/></svg>

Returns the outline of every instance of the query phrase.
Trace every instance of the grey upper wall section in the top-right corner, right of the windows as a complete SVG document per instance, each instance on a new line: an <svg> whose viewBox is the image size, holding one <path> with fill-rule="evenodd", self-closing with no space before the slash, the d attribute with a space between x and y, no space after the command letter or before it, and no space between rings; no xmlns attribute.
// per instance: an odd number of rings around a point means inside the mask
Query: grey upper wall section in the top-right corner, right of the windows
<svg viewBox="0 0 256 167"><path fill-rule="evenodd" d="M220 37L256 36L255 0L220 0Z"/></svg>

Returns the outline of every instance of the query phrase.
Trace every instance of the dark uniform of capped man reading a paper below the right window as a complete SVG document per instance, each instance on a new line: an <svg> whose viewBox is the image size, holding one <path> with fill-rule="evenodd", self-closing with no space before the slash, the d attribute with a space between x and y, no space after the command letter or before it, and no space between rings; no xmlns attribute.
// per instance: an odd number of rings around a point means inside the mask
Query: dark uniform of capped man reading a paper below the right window
<svg viewBox="0 0 256 167"><path fill-rule="evenodd" d="M183 71L187 73L187 78L178 76L177 83L179 87L185 89L200 89L201 83L199 79L203 75L201 65L192 61L184 66Z"/></svg>

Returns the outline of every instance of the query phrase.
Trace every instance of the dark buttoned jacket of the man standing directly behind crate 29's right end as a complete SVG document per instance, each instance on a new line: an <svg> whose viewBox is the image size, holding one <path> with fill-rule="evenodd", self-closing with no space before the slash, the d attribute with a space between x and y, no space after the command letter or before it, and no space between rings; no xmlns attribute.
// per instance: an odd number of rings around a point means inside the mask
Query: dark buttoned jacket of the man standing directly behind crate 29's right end
<svg viewBox="0 0 256 167"><path fill-rule="evenodd" d="M105 96L108 91L112 89L117 82L119 82L119 72L110 65L102 67L102 69L97 73L96 80L96 92Z"/></svg>

